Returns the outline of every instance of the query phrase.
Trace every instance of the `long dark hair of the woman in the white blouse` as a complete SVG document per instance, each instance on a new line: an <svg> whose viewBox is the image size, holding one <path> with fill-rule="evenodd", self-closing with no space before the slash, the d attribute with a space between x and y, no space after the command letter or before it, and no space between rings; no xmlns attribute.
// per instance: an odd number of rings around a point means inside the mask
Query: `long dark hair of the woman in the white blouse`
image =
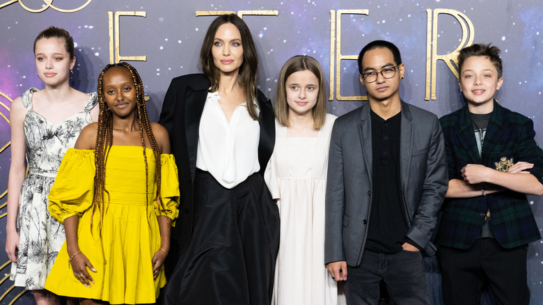
<svg viewBox="0 0 543 305"><path fill-rule="evenodd" d="M249 27L237 15L220 15L215 18L205 33L205 38L202 44L202 50L200 51L200 66L205 76L211 81L210 92L219 90L219 69L213 62L213 55L211 49L213 47L213 41L215 39L215 33L219 29L219 26L230 23L233 24L242 36L243 47L243 63L239 67L239 85L244 88L246 97L246 107L249 111L249 115L253 120L258 120L257 106L253 103L256 98L256 70L258 68L258 55L256 54L255 43L253 42L253 36Z"/></svg>

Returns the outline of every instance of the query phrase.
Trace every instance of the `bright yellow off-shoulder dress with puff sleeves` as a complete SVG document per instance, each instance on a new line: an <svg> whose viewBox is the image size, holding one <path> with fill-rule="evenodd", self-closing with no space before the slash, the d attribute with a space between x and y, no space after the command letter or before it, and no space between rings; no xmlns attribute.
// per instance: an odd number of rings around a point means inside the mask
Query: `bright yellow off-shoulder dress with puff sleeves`
<svg viewBox="0 0 543 305"><path fill-rule="evenodd" d="M77 239L97 272L89 270L95 281L86 288L68 267L64 243L53 265L45 289L56 295L100 299L110 304L155 303L159 289L166 284L164 267L157 279L152 276L152 256L159 251L159 203L155 157L145 149L148 160L148 192L145 194L145 162L141 146L112 146L106 164L104 194L106 211L93 212L94 150L70 148L58 169L49 193L49 212L61 223L79 216ZM178 217L178 169L173 155L161 155L161 196L167 217ZM146 205L145 196L149 205ZM108 199L109 198L109 199ZM109 201L109 203L108 203ZM92 225L91 225L92 218ZM102 221L102 232L98 227ZM174 222L172 222L174 223Z"/></svg>

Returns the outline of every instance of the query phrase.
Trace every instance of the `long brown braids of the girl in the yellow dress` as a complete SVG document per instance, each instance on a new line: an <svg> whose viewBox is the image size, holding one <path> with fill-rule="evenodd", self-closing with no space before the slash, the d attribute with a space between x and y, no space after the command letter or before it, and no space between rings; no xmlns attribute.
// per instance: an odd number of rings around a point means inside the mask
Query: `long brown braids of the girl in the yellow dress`
<svg viewBox="0 0 543 305"><path fill-rule="evenodd" d="M139 134L141 137L141 146L143 148L143 160L145 161L145 194L147 194L149 189L149 173L148 173L148 163L147 155L145 154L145 137L143 136L143 131L147 135L149 142L151 144L152 153L155 156L155 180L157 182L157 200L160 203L160 212L164 212L164 203L162 203L162 198L160 198L160 182L161 182L161 162L160 162L160 150L155 140L155 136L152 134L151 123L149 121L149 116L147 114L147 109L145 108L145 100L143 100L143 83L139 77L138 71L129 63L115 63L106 65L106 68L100 73L98 77L98 104L100 105L100 114L98 115L98 130L96 135L96 146L95 146L95 166L96 166L96 175L94 178L94 199L93 199L93 215L96 209L100 211L100 232L102 231L102 221L104 220L104 212L107 210L107 206L104 204L104 194L108 196L109 203L109 192L105 189L105 178L106 178L106 163L107 157L109 156L109 151L113 145L113 114L104 100L104 91L103 91L103 80L104 73L113 67L123 67L130 72L132 75L132 80L134 81L134 86L136 87L136 116L139 122ZM148 212L149 199L145 195L145 210ZM147 217L148 213L145 217ZM92 226L92 219L91 219Z"/></svg>

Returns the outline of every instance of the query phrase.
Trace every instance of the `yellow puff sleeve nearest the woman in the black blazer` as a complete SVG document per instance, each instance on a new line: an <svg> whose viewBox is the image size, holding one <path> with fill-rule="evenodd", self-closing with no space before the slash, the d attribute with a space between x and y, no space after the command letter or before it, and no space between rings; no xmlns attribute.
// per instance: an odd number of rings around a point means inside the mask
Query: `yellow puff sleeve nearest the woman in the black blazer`
<svg viewBox="0 0 543 305"><path fill-rule="evenodd" d="M172 220L172 226L175 226L175 220L178 219L179 210L179 179L178 166L175 165L175 158L171 154L160 155L161 178L160 178L160 196L164 210L159 206L159 201L155 201L155 213L164 215Z"/></svg>

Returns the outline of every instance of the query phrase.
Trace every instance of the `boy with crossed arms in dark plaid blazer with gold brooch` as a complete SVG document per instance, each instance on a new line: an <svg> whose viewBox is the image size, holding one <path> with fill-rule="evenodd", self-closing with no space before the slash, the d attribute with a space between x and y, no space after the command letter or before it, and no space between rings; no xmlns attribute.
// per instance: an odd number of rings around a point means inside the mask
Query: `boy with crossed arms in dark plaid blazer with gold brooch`
<svg viewBox="0 0 543 305"><path fill-rule="evenodd" d="M501 107L500 49L458 56L466 105L440 119L449 185L436 235L445 304L479 304L484 284L498 304L528 304L528 243L541 235L526 194L543 194L543 151L533 122Z"/></svg>

